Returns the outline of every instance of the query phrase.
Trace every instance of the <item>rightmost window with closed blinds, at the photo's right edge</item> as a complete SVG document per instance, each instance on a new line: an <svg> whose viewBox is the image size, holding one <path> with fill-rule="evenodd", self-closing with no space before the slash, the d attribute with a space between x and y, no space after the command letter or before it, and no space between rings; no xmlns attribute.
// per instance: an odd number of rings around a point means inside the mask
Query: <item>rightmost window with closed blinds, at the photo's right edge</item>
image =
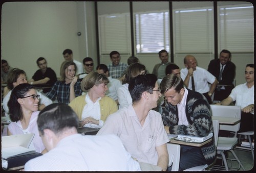
<svg viewBox="0 0 256 173"><path fill-rule="evenodd" d="M253 53L253 6L219 6L219 47L232 53Z"/></svg>

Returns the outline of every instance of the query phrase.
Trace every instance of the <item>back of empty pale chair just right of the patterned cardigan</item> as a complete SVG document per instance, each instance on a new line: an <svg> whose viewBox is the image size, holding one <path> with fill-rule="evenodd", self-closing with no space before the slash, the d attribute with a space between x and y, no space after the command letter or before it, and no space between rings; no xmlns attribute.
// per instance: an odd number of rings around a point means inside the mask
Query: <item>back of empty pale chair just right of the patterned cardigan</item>
<svg viewBox="0 0 256 173"><path fill-rule="evenodd" d="M210 105L212 116L231 117L241 119L241 107L240 106L220 106ZM237 136L237 132L240 129L240 122L236 125L221 125L220 130L226 130L234 132Z"/></svg>

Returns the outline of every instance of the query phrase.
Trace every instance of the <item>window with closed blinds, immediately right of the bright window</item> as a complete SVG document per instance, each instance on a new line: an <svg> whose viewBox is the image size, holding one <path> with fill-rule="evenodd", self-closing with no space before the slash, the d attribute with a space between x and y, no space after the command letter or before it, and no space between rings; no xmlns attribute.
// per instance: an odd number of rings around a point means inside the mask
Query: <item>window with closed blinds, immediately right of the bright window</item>
<svg viewBox="0 0 256 173"><path fill-rule="evenodd" d="M213 7L176 9L174 50L181 53L214 53Z"/></svg>

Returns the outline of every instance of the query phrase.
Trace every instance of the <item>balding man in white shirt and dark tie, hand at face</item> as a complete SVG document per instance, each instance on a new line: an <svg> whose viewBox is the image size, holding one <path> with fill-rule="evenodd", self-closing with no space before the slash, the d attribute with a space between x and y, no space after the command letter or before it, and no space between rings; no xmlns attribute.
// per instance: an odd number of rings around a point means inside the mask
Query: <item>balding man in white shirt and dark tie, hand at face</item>
<svg viewBox="0 0 256 173"><path fill-rule="evenodd" d="M193 55L186 55L184 58L185 68L180 70L180 77L184 81L184 85L193 90L193 78L195 83L195 91L203 94L209 104L212 103L211 95L214 93L215 88L218 85L218 81L215 76L211 75L209 71L197 66L197 60ZM210 88L208 83L211 84Z"/></svg>

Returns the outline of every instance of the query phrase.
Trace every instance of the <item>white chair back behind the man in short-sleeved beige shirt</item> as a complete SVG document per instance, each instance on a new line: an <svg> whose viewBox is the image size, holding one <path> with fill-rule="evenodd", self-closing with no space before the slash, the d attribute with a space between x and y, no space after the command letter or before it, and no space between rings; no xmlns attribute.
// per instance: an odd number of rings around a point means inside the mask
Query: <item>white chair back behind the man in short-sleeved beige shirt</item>
<svg viewBox="0 0 256 173"><path fill-rule="evenodd" d="M168 166L172 166L172 171L178 171L180 166L180 145L174 143L166 143L169 154Z"/></svg>

